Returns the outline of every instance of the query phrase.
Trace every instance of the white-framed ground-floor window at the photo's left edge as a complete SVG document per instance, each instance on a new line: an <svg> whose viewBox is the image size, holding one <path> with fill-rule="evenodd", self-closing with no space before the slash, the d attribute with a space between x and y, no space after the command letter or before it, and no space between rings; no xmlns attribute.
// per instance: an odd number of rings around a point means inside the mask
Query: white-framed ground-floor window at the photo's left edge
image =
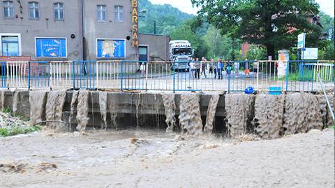
<svg viewBox="0 0 335 188"><path fill-rule="evenodd" d="M1 47L3 56L19 56L19 37L1 36Z"/></svg>

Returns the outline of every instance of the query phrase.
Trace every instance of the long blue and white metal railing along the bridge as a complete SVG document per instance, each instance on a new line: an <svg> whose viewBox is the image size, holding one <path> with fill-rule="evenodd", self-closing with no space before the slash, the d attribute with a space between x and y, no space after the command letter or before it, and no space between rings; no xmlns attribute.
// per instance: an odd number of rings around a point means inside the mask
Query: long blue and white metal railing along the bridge
<svg viewBox="0 0 335 188"><path fill-rule="evenodd" d="M179 66L179 63L182 66ZM187 64L187 66L185 66ZM335 61L236 62L0 62L1 87L244 92L334 88Z"/></svg>

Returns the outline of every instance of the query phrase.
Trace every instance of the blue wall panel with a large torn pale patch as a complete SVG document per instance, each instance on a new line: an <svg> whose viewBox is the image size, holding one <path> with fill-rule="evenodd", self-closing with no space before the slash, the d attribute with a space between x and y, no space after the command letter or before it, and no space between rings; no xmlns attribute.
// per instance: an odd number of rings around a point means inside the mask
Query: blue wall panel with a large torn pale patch
<svg viewBox="0 0 335 188"><path fill-rule="evenodd" d="M98 39L97 57L124 58L124 40L102 40Z"/></svg>

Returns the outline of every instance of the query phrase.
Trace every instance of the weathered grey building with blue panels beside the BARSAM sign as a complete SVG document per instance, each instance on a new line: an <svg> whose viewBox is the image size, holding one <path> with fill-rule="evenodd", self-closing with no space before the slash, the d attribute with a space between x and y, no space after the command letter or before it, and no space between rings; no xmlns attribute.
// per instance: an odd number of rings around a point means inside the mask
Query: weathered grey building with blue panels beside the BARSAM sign
<svg viewBox="0 0 335 188"><path fill-rule="evenodd" d="M139 45L133 45L133 22L138 22L138 16L134 20L138 11L133 9L134 2L138 3L137 0L1 1L0 56L25 56L37 61L137 60L140 52L146 50L147 60L151 53L168 60L168 55L164 55L168 36L148 35L139 40ZM162 46L150 48L148 43L152 40L161 40Z"/></svg>

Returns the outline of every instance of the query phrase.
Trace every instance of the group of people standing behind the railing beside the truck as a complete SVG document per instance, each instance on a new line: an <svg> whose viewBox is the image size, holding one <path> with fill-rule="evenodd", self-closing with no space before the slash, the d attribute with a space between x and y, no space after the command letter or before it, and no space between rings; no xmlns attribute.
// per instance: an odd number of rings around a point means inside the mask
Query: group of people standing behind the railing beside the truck
<svg viewBox="0 0 335 188"><path fill-rule="evenodd" d="M246 75L246 78L249 77L250 69L249 66L251 62L248 62L248 59L246 59L246 62L231 62L230 59L228 59L227 62L223 62L223 60L220 58L218 61L214 61L213 58L211 58L210 61L207 61L204 57L202 57L201 61L199 58L191 58L188 62L188 66L190 68L190 77L200 79L200 76L203 78L207 78L207 70L209 73L209 78L217 78L217 79L223 79L223 74L226 72L228 77L230 77L232 70L234 70L234 77L239 78L239 71L240 71L240 65L244 66L244 73ZM253 62L253 72L257 72L258 68L258 62L257 59Z"/></svg>

